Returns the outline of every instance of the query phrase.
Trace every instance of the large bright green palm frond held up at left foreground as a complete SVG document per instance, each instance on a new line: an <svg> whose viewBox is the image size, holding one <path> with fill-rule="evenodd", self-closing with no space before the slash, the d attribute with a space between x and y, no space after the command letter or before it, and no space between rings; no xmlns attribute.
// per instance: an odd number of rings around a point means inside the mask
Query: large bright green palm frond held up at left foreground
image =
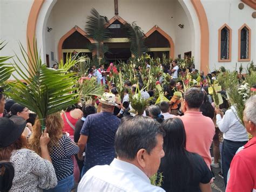
<svg viewBox="0 0 256 192"><path fill-rule="evenodd" d="M77 90L73 86L76 84L78 77L75 76L75 73L67 70L54 70L46 67L42 63L35 40L33 41L33 51L28 42L31 58L28 57L28 53L26 53L21 43L19 46L24 63L16 55L18 61L14 60L13 66L16 73L28 86L24 85L17 76L14 76L16 82L10 83L11 91L6 94L19 104L35 112L44 129L47 115L59 112L78 102L78 94L72 93Z"/></svg>

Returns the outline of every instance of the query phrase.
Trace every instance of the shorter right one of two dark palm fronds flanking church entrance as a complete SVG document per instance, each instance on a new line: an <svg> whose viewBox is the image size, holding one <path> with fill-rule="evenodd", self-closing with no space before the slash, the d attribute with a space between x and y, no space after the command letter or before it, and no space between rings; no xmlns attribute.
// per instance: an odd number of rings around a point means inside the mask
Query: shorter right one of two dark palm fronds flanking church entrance
<svg viewBox="0 0 256 192"><path fill-rule="evenodd" d="M131 53L134 54L136 58L142 56L144 52L147 52L149 49L145 45L145 35L142 29L135 23L127 23L127 36L128 41L131 43Z"/></svg>

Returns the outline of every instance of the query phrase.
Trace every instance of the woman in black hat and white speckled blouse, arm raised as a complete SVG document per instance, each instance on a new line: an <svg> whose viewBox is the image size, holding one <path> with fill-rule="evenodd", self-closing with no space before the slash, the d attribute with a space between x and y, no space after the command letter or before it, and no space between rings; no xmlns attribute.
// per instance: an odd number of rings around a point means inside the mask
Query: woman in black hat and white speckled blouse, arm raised
<svg viewBox="0 0 256 192"><path fill-rule="evenodd" d="M50 141L46 129L40 138L41 156L26 148L22 134L26 121L15 124L8 118L0 118L0 161L14 165L15 176L10 191L42 191L57 184L47 144Z"/></svg>

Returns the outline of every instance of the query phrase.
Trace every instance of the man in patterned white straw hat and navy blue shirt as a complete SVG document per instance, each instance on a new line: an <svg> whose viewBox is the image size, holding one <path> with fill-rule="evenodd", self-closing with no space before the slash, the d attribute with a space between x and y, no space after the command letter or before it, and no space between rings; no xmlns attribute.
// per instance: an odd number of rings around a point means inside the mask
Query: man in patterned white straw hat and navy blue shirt
<svg viewBox="0 0 256 192"><path fill-rule="evenodd" d="M114 135L120 119L113 115L114 106L117 106L115 95L103 93L99 102L100 113L88 115L80 132L78 159L83 159L85 150L81 176L96 165L110 164L116 156Z"/></svg>

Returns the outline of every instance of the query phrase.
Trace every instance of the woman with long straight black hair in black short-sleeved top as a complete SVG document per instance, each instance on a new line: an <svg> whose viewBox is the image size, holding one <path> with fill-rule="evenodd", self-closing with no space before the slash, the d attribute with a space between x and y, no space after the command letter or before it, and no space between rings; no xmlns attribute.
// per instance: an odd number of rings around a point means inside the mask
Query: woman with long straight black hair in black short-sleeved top
<svg viewBox="0 0 256 192"><path fill-rule="evenodd" d="M165 156L159 172L163 174L162 188L166 191L211 191L211 170L204 159L186 150L186 133L179 118L168 119L161 124ZM196 142L196 141L195 141Z"/></svg>

